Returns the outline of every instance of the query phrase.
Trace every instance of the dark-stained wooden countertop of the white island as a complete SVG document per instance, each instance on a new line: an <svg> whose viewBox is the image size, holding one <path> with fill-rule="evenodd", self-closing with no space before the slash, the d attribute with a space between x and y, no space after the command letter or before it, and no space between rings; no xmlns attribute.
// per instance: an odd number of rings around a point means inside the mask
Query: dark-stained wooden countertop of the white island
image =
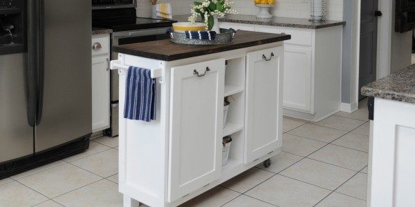
<svg viewBox="0 0 415 207"><path fill-rule="evenodd" d="M173 43L169 39L132 43L122 46L113 46L113 52L127 55L158 59L163 61L175 61L201 55L209 55L217 52L249 48L291 39L288 34L271 34L264 32L250 32L238 30L232 43L216 46L190 46Z"/></svg>

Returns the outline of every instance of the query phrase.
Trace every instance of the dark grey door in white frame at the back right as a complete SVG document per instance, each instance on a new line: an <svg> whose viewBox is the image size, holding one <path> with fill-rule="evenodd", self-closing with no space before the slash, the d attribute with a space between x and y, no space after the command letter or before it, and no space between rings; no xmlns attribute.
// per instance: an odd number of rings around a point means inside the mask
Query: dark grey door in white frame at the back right
<svg viewBox="0 0 415 207"><path fill-rule="evenodd" d="M378 0L362 1L360 15L359 100L362 86L376 81L376 50L378 41Z"/></svg>

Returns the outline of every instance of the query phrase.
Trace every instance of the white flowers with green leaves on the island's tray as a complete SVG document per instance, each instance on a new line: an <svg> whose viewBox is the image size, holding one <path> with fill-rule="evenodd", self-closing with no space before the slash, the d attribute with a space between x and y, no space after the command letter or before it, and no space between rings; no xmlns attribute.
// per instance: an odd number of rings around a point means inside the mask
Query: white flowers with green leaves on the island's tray
<svg viewBox="0 0 415 207"><path fill-rule="evenodd" d="M206 24L206 30L212 30L214 25L214 16L224 17L225 14L236 14L237 11L232 10L231 7L234 2L230 0L203 0L202 2L195 1L192 5L192 15L189 17L190 23L196 22L197 17L201 17Z"/></svg>

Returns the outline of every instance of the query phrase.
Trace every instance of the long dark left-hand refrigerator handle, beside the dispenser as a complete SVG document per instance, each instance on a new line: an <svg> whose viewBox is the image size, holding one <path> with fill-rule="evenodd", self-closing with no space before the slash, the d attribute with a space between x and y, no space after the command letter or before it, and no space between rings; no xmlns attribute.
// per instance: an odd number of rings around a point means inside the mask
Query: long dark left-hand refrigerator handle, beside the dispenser
<svg viewBox="0 0 415 207"><path fill-rule="evenodd" d="M39 5L37 1L28 1L28 74L27 74L27 116L29 126L35 126L38 99L39 68Z"/></svg>

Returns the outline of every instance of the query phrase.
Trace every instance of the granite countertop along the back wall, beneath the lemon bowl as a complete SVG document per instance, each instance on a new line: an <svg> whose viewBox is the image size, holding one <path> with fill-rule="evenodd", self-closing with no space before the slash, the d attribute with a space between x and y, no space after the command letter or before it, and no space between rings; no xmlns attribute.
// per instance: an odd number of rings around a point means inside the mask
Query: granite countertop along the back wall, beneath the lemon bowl
<svg viewBox="0 0 415 207"><path fill-rule="evenodd" d="M175 16L176 21L187 21L189 15ZM323 22L312 22L308 19L295 19L295 18L284 18L284 17L273 17L270 19L259 19L252 15L241 15L241 14L228 14L224 18L220 18L219 21L231 22L231 23L248 23L255 25L264 26L279 26L286 28L305 28L305 29L321 29L329 28L333 26L344 26L345 21L323 21Z"/></svg>

